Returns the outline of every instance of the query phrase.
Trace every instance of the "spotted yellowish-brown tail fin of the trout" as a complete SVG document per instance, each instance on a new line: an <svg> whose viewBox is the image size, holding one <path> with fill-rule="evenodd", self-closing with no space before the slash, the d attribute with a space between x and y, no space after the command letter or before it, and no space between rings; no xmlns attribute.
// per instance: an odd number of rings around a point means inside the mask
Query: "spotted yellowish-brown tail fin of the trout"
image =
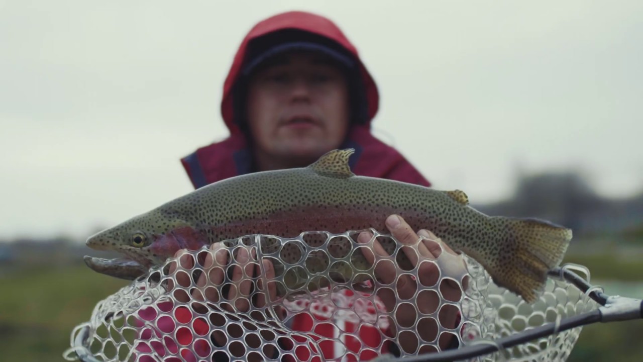
<svg viewBox="0 0 643 362"><path fill-rule="evenodd" d="M563 261L572 230L535 218L492 219L504 237L487 271L494 283L533 303L545 290L547 272Z"/></svg>

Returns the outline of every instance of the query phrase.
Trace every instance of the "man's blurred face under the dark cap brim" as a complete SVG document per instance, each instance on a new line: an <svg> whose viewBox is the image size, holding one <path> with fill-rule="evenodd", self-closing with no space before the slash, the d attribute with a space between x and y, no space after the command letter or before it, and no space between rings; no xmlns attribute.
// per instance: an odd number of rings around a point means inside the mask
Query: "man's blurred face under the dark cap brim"
<svg viewBox="0 0 643 362"><path fill-rule="evenodd" d="M269 157L318 158L339 148L349 126L347 81L316 53L287 53L258 70L247 106L255 147Z"/></svg>

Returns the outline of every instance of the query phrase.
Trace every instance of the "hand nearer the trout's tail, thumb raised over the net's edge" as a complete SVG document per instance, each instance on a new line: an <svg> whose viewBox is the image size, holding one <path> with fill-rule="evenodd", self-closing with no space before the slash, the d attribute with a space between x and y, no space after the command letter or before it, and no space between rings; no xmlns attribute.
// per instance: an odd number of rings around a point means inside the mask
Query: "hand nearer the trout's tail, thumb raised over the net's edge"
<svg viewBox="0 0 643 362"><path fill-rule="evenodd" d="M430 231L420 230L416 234L401 216L390 215L388 218L386 218L386 227L389 229L392 236L394 236L394 238L403 245L415 245L417 243L417 249L421 256L423 256L424 258L435 259L440 256L442 250L448 252L449 254L453 254L453 256L458 256L458 254L451 250L451 248L449 248L447 245L442 243L441 240ZM358 236L358 242L368 243L372 236L373 235L369 232L360 233ZM418 243L419 236L424 236L425 238L428 238L430 240L422 240L422 242ZM439 244L442 245L442 249L440 249ZM373 249L373 252L378 255L388 256L388 253L384 250L381 244L377 242L377 240L375 240L373 243ZM419 258L415 250L410 247L403 247L402 251L410 260L413 267L417 266ZM363 254L365 258L367 258L368 262L372 265L375 260L374 254L372 254L371 252L364 252ZM455 270L457 271L460 267L462 267L463 269L460 269L460 271L466 271L464 260L459 256L457 260L458 261L455 262L455 265L453 265ZM378 279L388 284L395 281L397 270L393 263L378 263L376 265L375 274ZM437 283L439 279L440 271L438 270L435 263L423 262L420 264L417 275L419 276L419 280L415 280L415 278L412 278L412 276L408 274L401 275L397 280L395 289L397 291L397 296L399 296L401 300L408 300L412 298L413 295L415 295L415 292L418 289L418 282L425 286L435 285L435 283ZM463 285L463 288L466 289L466 280L463 281L463 283L465 284ZM460 286L453 280L445 279L442 283L440 283L438 287L442 296L444 296L444 298L448 301L460 301L460 299L462 298L462 289L460 289ZM383 301L386 310L394 310L395 304L397 303L395 294L390 292L390 289L380 289L380 291L381 292L378 291L378 296ZM413 304L422 313L432 313L435 312L439 303L439 294L435 292L420 292L419 294L417 294L417 299ZM415 309L412 308L399 308L395 313L395 321L397 322L397 324L403 327L411 327L415 323L417 318L419 318L419 316L417 316ZM457 318L457 309L445 308L440 310L439 317L437 319L443 327L453 329L457 326ZM394 336L397 335L397 328L394 323L391 324L390 331ZM437 323L417 324L417 334L419 334L419 337L424 340L433 340L435 338L438 338L437 332ZM449 343L451 343L452 338L452 334L445 334L444 337L440 336L438 342L440 348L442 350L447 348L449 346ZM414 338L400 339L400 347L405 352L409 353L415 352L418 343L418 336L414 336Z"/></svg>

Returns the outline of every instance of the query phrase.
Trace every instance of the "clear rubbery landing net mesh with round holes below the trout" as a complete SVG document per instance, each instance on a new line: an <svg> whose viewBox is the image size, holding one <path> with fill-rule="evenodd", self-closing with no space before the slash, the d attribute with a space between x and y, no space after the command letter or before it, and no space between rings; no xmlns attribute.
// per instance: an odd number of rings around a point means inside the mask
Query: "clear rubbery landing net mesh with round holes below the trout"
<svg viewBox="0 0 643 362"><path fill-rule="evenodd" d="M397 242L389 256L374 243L392 237L372 233L368 243L356 241L358 232L309 232L244 236L222 242L216 252L186 251L100 301L91 319L72 332L64 356L139 362L415 356L490 343L598 307L574 286L552 279L529 305L494 285L475 260L445 252L439 240L419 241L431 256L419 252L418 243ZM267 252L267 242L278 247ZM348 247L329 252L336 242ZM300 254L284 258L285 249ZM370 252L372 265L350 267L356 252ZM417 262L400 266L403 252ZM79 342L80 330L87 336ZM566 330L472 360L565 361L580 332Z"/></svg>

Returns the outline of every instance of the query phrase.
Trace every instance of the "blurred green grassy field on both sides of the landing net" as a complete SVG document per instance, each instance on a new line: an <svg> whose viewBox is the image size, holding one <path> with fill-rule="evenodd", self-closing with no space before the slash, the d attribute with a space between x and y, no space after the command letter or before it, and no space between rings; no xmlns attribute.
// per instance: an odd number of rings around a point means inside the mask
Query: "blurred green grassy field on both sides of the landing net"
<svg viewBox="0 0 643 362"><path fill-rule="evenodd" d="M640 280L643 263L610 258L568 258L590 267L593 278ZM606 263L607 262L607 263ZM31 269L0 276L0 359L63 361L73 327L87 321L97 301L126 281L90 271L84 265ZM633 296L640 298L641 296ZM640 361L643 321L595 324L584 328L569 361Z"/></svg>

